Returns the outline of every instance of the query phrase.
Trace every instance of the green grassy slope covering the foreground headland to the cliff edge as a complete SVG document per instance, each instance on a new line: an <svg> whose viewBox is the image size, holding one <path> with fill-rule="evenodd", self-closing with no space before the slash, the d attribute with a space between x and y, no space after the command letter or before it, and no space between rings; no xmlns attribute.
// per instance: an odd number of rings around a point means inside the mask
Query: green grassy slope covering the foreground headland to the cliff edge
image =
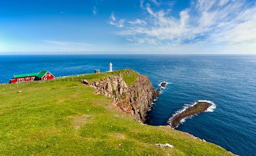
<svg viewBox="0 0 256 156"><path fill-rule="evenodd" d="M93 80L95 76L85 77ZM132 77L126 81L132 83ZM75 81L1 91L1 155L229 154L178 130L141 125L112 106L110 98L93 91ZM170 143L175 148L159 148L156 143Z"/></svg>

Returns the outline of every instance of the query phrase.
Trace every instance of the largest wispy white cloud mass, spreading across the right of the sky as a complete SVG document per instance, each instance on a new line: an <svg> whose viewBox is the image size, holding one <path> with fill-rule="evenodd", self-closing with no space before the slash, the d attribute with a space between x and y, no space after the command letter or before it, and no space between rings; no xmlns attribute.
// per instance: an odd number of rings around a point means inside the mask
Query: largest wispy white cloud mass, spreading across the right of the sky
<svg viewBox="0 0 256 156"><path fill-rule="evenodd" d="M142 7L143 2L140 1ZM256 45L256 3L245 0L196 0L191 1L189 8L180 11L179 17L171 16L167 9L154 11L149 3L143 9L149 15L142 20L148 23L147 26L129 21L132 25L117 34L134 38L132 41L140 44L162 46Z"/></svg>

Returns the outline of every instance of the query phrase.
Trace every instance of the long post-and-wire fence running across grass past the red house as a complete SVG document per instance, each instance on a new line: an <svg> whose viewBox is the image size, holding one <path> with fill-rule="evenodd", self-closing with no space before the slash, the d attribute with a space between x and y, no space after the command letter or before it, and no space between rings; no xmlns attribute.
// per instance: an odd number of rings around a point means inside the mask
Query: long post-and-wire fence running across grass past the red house
<svg viewBox="0 0 256 156"><path fill-rule="evenodd" d="M21 82L21 83L1 83L0 84L0 93L7 89L14 89L14 88L22 88L27 85L37 84L37 83L55 83L55 82L70 82L70 81L82 81L82 76L87 76L95 73L85 73L85 74L76 74L70 76L63 76L63 77L55 77L55 79L51 80L32 80L28 82Z"/></svg>

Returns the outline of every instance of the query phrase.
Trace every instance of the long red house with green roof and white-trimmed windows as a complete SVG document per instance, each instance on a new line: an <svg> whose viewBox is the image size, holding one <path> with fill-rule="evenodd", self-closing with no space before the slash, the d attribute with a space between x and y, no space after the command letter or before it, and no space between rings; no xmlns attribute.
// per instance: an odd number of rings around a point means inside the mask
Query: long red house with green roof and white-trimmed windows
<svg viewBox="0 0 256 156"><path fill-rule="evenodd" d="M40 73L13 75L13 79L10 79L10 83L28 82L32 80L49 80L54 78L55 76L53 76L53 74L43 69Z"/></svg>

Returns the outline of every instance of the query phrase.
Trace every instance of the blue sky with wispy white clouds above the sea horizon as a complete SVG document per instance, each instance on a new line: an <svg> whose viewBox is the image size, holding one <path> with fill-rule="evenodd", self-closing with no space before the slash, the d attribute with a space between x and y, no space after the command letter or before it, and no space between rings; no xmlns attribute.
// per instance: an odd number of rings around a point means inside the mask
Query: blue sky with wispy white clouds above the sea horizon
<svg viewBox="0 0 256 156"><path fill-rule="evenodd" d="M0 54L256 54L254 0L0 0Z"/></svg>

